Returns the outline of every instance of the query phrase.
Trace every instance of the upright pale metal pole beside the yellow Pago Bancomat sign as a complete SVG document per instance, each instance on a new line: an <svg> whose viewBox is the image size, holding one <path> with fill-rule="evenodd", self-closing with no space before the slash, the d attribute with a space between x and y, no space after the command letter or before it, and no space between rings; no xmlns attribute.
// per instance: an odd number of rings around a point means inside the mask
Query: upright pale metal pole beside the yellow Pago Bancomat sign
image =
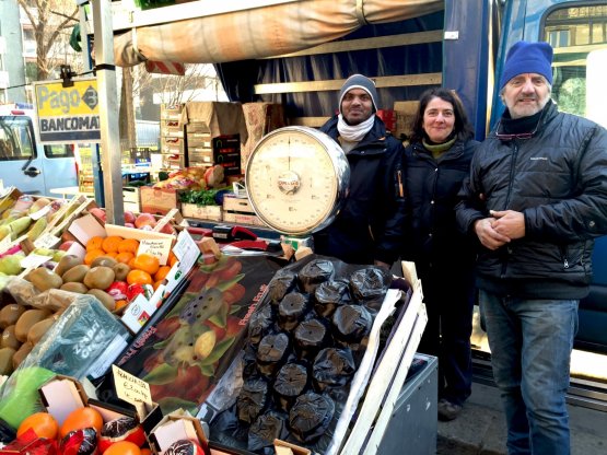
<svg viewBox="0 0 607 455"><path fill-rule="evenodd" d="M125 205L120 167L120 138L118 136L118 94L114 59L112 2L109 0L96 0L92 4L95 32L95 67L97 68L97 88L100 91L105 211L108 223L124 225Z"/></svg>

